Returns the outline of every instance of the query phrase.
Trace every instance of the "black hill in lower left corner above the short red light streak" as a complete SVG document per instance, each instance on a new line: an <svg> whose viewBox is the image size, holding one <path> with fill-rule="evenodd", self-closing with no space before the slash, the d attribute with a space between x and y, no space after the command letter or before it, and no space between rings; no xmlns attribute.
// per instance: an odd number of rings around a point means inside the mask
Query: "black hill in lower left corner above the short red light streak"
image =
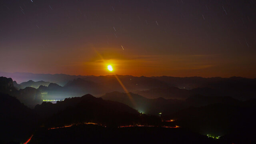
<svg viewBox="0 0 256 144"><path fill-rule="evenodd" d="M16 98L0 93L0 143L24 141L34 132L38 117Z"/></svg>

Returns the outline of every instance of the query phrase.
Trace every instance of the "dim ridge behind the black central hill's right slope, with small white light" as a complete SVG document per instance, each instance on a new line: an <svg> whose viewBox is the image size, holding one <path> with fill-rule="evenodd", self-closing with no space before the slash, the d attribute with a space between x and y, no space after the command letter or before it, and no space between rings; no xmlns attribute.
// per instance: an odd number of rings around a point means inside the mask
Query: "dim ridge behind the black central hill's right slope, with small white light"
<svg viewBox="0 0 256 144"><path fill-rule="evenodd" d="M184 108L190 106L206 106L209 104L239 104L240 101L231 97L225 96L202 96L194 95L190 96L186 100L177 100L177 99L164 99L164 98L155 98L149 99L138 94L133 93L120 93L120 92L111 92L102 96L104 100L112 100L116 102L122 102L128 106L143 112L146 114L158 115L170 115Z"/></svg>

